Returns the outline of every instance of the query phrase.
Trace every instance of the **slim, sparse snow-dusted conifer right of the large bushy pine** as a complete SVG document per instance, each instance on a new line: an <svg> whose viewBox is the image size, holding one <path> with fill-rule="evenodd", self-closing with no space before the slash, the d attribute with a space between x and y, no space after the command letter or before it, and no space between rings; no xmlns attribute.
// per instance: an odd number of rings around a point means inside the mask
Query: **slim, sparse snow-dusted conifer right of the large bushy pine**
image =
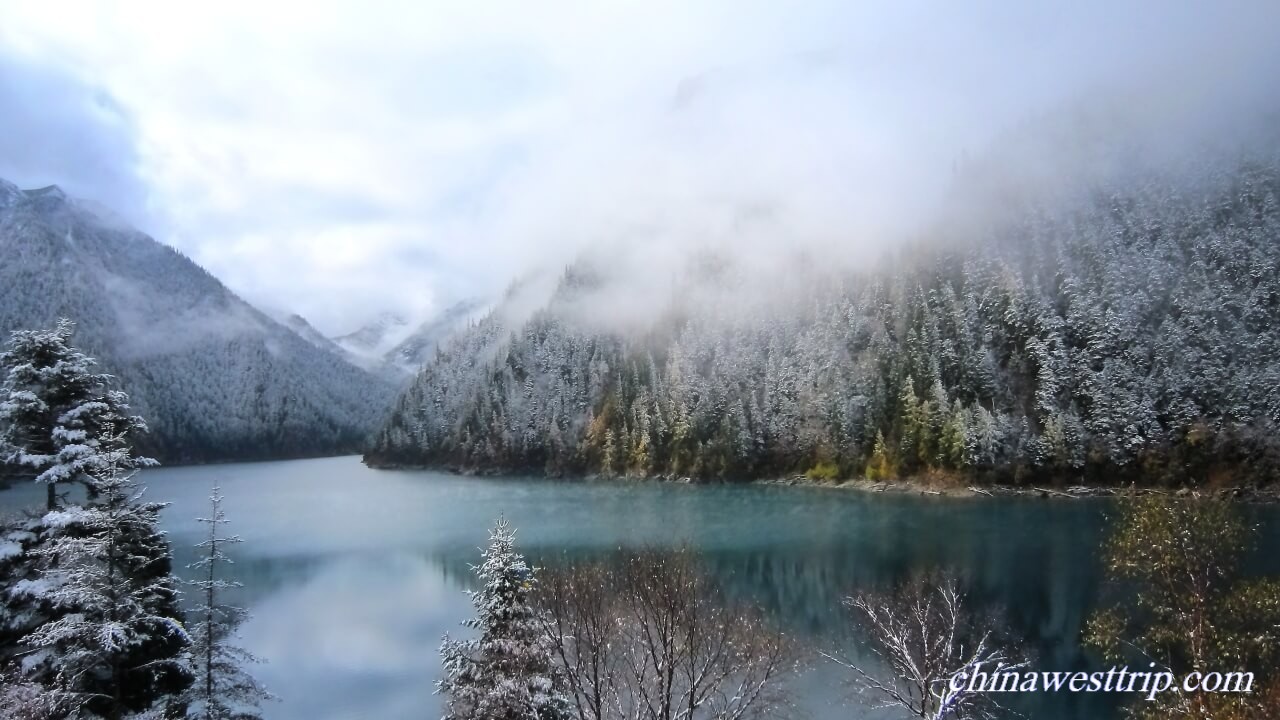
<svg viewBox="0 0 1280 720"><path fill-rule="evenodd" d="M204 557L189 565L198 573L198 578L187 583L196 588L202 601L202 605L191 611L187 629L191 635L191 671L196 676L186 694L187 717L261 720L259 707L262 701L273 700L273 696L244 670L246 665L261 660L229 643L232 633L248 614L241 607L221 602L223 592L241 587L237 582L219 577L219 568L232 564L232 559L227 556L227 546L241 542L241 538L218 534L218 527L228 523L218 486L214 486L209 503L209 518L197 518L197 521L209 525L209 536L196 544Z"/></svg>

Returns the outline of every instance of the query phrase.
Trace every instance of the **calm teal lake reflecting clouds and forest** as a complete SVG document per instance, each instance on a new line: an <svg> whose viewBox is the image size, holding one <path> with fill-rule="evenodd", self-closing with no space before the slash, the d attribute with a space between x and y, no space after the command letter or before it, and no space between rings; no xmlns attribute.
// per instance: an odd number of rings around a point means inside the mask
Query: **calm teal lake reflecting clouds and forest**
<svg viewBox="0 0 1280 720"><path fill-rule="evenodd" d="M781 486L559 482L370 470L358 457L147 470L147 497L172 502L164 523L177 568L221 486L237 598L253 614L246 648L280 702L278 720L421 720L445 632L471 615L468 564L493 521L518 528L535 562L608 557L625 546L699 548L727 593L751 598L824 650L863 657L849 639L842 596L887 587L924 569L964 579L980 607L1002 609L1038 670L1094 669L1079 647L1098 602L1098 544L1110 503L1030 497L942 498ZM42 501L42 488L0 492L0 509ZM1280 573L1280 512L1263 524L1254 570ZM849 701L844 675L815 662L797 680L805 717L881 717ZM1023 698L1036 719L1117 717L1120 696Z"/></svg>

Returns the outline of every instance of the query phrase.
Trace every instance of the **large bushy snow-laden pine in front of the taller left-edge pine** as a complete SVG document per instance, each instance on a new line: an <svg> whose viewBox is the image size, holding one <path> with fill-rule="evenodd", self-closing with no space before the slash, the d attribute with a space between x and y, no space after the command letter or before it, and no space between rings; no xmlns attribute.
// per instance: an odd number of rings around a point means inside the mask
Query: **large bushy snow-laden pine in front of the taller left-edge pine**
<svg viewBox="0 0 1280 720"><path fill-rule="evenodd" d="M163 503L145 502L134 457L111 427L88 470L92 503L47 512L47 537L28 552L41 575L13 593L50 610L23 644L28 679L77 714L120 719L177 698L191 684Z"/></svg>

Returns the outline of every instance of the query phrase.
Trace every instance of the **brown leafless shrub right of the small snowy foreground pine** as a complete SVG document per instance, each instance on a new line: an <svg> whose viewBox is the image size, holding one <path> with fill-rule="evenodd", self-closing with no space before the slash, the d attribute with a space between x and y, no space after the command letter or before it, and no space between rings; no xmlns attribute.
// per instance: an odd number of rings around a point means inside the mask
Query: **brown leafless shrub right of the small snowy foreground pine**
<svg viewBox="0 0 1280 720"><path fill-rule="evenodd" d="M544 570L539 585L584 720L739 720L791 707L791 639L728 602L687 548Z"/></svg>

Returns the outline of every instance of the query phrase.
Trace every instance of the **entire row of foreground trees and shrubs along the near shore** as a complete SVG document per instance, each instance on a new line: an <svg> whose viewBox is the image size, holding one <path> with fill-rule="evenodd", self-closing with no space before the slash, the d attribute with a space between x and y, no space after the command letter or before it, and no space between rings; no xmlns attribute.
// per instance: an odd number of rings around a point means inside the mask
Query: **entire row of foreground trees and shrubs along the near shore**
<svg viewBox="0 0 1280 720"><path fill-rule="evenodd" d="M163 503L136 473L154 461L128 397L70 345L73 327L14 333L0 354L0 419L10 462L50 488L42 512L0 527L0 715L18 720L251 720L269 693L232 643L244 612L223 602L227 550L214 488L179 607L159 529ZM73 501L72 491L83 501ZM1249 578L1257 537L1236 507L1146 496L1117 505L1103 547L1115 593L1088 625L1115 662L1178 673L1249 670L1249 694L1181 693L1135 702L1133 717L1262 720L1280 711L1280 582ZM748 601L727 597L690 548L644 550L621 564L532 568L515 530L490 533L472 593L472 637L445 639L438 691L448 720L745 719L787 711L791 682L818 661L849 671L861 697L915 717L997 717L956 673L1030 661L959 580L915 578L842 598L874 664L806 647Z"/></svg>

